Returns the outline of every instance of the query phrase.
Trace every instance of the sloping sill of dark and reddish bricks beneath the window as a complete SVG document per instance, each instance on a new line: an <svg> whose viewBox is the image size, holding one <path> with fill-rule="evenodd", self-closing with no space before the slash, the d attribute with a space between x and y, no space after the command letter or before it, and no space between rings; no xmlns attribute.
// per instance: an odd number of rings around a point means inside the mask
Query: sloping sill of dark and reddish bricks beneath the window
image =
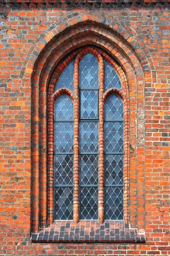
<svg viewBox="0 0 170 256"><path fill-rule="evenodd" d="M144 243L144 233L131 229L124 221L54 221L46 229L32 234L32 242L131 242Z"/></svg>

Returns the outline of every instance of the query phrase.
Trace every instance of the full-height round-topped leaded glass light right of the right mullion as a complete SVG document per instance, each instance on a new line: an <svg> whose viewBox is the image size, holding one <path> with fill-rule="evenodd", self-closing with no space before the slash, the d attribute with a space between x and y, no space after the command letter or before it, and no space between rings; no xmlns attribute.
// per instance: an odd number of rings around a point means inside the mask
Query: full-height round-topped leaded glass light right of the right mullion
<svg viewBox="0 0 170 256"><path fill-rule="evenodd" d="M123 102L105 102L105 220L123 219Z"/></svg>

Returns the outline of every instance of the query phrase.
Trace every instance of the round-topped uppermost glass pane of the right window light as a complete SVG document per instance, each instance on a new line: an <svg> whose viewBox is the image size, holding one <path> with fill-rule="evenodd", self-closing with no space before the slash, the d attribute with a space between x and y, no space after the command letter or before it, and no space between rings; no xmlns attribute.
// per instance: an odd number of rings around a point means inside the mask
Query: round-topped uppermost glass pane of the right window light
<svg viewBox="0 0 170 256"><path fill-rule="evenodd" d="M123 102L116 94L112 94L106 99L105 120L123 120Z"/></svg>

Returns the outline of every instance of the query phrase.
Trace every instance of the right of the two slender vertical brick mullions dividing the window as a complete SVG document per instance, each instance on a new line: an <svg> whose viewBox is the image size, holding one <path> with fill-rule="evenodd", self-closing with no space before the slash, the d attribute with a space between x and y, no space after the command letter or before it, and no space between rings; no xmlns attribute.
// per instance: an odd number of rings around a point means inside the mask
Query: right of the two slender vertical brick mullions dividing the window
<svg viewBox="0 0 170 256"><path fill-rule="evenodd" d="M104 221L104 61L99 60L99 222Z"/></svg>

